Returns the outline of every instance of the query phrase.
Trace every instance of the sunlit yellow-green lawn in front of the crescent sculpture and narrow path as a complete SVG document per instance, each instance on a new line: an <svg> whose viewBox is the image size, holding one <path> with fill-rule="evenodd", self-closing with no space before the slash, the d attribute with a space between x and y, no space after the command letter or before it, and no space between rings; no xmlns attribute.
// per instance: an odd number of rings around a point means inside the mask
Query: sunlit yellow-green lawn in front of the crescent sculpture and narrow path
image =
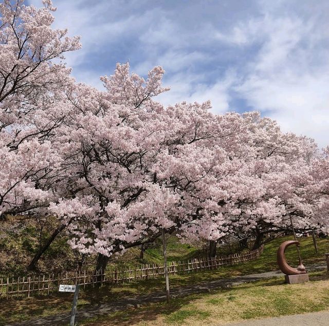
<svg viewBox="0 0 329 326"><path fill-rule="evenodd" d="M173 299L99 316L79 326L221 325L246 319L318 312L329 309L329 275L311 273L303 284L269 279L233 286L211 294Z"/></svg>

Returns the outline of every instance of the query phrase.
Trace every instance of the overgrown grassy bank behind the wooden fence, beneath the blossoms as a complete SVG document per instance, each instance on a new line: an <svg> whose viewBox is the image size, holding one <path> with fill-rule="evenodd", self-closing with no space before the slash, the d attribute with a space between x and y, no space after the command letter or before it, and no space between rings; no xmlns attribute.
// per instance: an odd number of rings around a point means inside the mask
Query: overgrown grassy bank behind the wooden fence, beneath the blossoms
<svg viewBox="0 0 329 326"><path fill-rule="evenodd" d="M17 277L27 276L26 267L39 249L40 233L42 234L42 242L50 236L51 232L58 225L58 221L49 217L47 221L42 223L26 217L12 216L8 220L2 222L0 231L0 277ZM19 225L17 230L12 228L13 224ZM155 247L145 251L144 258L139 259L140 249L131 248L122 256L117 255L113 264L153 264L162 262L162 246L158 239ZM168 239L168 260L190 259L200 255L198 248L179 243L176 237ZM60 273L62 271L76 271L77 258L70 246L67 244L67 236L65 233L60 234L51 244L48 250L43 254L39 261L39 274ZM96 256L87 258L83 269L95 269ZM111 264L108 265L110 267ZM29 273L30 275L31 273Z"/></svg>

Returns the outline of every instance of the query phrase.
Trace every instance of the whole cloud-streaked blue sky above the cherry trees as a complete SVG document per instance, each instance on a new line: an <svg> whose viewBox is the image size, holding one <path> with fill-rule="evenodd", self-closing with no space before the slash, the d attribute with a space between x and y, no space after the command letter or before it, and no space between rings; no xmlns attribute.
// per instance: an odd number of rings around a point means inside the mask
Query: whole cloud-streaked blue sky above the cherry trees
<svg viewBox="0 0 329 326"><path fill-rule="evenodd" d="M29 4L41 6L41 0ZM77 81L102 88L117 62L166 70L164 105L211 100L259 110L284 131L329 144L329 1L54 0L54 27L80 35Z"/></svg>

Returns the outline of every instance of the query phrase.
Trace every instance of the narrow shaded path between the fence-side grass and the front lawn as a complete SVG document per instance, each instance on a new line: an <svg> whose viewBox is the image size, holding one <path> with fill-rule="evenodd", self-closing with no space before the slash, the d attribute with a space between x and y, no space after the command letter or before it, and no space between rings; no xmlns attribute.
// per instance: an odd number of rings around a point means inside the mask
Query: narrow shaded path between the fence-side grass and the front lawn
<svg viewBox="0 0 329 326"><path fill-rule="evenodd" d="M314 269L312 267L315 267L316 269L325 268L325 266L323 265L321 265L321 267L319 265L316 265L316 266L308 266L307 270L310 271ZM242 283L254 282L262 279L267 279L272 277L282 277L282 276L283 274L280 271L277 271L277 272L266 272L260 274L250 274L250 275L238 276L229 279L208 281L197 285L182 286L176 289L172 289L171 296L182 297L196 293L207 293L211 290L217 290L223 287L229 287L229 286L239 285ZM161 292L161 293L152 293L148 295L139 295L132 298L123 298L115 302L109 302L104 304L88 305L86 308L82 308L77 311L76 321L83 320L86 318L92 318L100 315L111 314L113 312L122 311L127 308L132 308L132 307L138 308L141 304L156 303L165 300L166 300L166 294L164 292ZM59 325L67 325L68 320L69 320L69 313L63 313L49 317L32 319L20 323L11 323L6 326L9 325L10 326L27 326L27 325L44 326L47 324L51 326L59 326ZM265 324L260 324L260 325L265 325ZM295 326L297 325L298 324L295 324ZM329 325L329 319L327 325Z"/></svg>

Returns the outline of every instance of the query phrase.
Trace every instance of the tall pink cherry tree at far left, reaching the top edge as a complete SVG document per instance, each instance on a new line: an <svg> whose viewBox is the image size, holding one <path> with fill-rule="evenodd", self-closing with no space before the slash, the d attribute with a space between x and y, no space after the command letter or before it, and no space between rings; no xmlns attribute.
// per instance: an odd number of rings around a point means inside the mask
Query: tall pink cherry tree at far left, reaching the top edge
<svg viewBox="0 0 329 326"><path fill-rule="evenodd" d="M44 205L61 157L50 138L65 117L64 89L71 84L63 54L80 47L78 37L53 30L44 7L22 0L0 4L0 210L2 216ZM56 61L56 62L55 62Z"/></svg>

